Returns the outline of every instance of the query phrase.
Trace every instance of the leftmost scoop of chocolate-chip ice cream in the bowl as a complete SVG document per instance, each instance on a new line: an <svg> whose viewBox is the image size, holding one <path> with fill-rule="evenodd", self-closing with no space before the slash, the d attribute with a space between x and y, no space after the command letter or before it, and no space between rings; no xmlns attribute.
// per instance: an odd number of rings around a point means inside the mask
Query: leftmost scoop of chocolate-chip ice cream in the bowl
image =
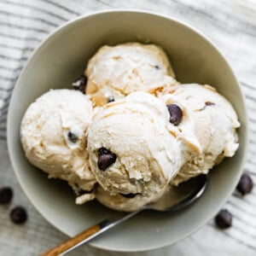
<svg viewBox="0 0 256 256"><path fill-rule="evenodd" d="M26 158L49 177L90 191L96 179L90 171L86 135L92 104L76 90L49 90L33 102L22 119L21 143Z"/></svg>

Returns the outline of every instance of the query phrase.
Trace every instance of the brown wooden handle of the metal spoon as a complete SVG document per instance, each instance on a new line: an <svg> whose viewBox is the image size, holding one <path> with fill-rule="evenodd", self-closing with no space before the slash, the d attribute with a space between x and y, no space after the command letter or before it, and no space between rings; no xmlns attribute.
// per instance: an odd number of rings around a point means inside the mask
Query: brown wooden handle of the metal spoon
<svg viewBox="0 0 256 256"><path fill-rule="evenodd" d="M96 224L96 225L90 227L88 230L84 230L83 232L79 233L77 236L73 236L72 238L67 239L66 241L62 241L57 246L49 249L49 251L41 254L41 256L57 256L57 255L60 255L61 253L66 252L67 249L69 249L71 247L74 247L77 244L79 244L80 241L84 241L86 238L95 235L100 230L101 230L100 224Z"/></svg>

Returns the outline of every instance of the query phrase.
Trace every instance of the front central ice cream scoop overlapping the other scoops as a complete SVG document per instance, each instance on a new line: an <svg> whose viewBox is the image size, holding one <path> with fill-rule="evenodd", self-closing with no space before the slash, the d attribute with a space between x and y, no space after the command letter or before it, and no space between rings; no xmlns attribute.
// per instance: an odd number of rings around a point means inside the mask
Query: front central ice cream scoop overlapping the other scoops
<svg viewBox="0 0 256 256"><path fill-rule="evenodd" d="M178 129L166 105L134 92L108 103L88 131L90 164L110 195L160 195L182 165ZM153 195L154 194L154 195Z"/></svg>

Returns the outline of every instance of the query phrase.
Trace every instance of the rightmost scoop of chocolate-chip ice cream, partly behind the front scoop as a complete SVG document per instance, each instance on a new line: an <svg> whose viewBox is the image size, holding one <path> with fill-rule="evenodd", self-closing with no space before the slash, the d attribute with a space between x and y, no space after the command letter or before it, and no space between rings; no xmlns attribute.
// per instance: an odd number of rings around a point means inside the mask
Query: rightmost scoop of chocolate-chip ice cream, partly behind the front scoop
<svg viewBox="0 0 256 256"><path fill-rule="evenodd" d="M173 97L189 109L202 149L201 154L190 152L190 159L172 179L171 183L177 185L233 156L239 146L236 128L240 123L230 102L210 85L179 84L163 98L170 103Z"/></svg>

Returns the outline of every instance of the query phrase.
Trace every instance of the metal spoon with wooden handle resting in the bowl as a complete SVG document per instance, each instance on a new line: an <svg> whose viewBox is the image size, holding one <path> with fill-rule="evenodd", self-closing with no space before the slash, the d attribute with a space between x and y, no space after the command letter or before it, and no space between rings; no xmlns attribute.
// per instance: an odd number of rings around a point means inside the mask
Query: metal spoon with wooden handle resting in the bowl
<svg viewBox="0 0 256 256"><path fill-rule="evenodd" d="M154 210L158 212L173 212L188 207L192 202L201 197L207 188L207 175L200 175L193 177L187 182L180 183L177 187L170 186L170 189L155 203L150 203L135 212L114 212L113 216L107 218L82 231L76 236L73 236L67 241L61 242L59 245L49 249L49 251L41 254L41 256L63 256L68 252L73 251L76 247L90 241L96 236L99 236L106 230L113 228L115 225L120 224L135 216L143 210Z"/></svg>

